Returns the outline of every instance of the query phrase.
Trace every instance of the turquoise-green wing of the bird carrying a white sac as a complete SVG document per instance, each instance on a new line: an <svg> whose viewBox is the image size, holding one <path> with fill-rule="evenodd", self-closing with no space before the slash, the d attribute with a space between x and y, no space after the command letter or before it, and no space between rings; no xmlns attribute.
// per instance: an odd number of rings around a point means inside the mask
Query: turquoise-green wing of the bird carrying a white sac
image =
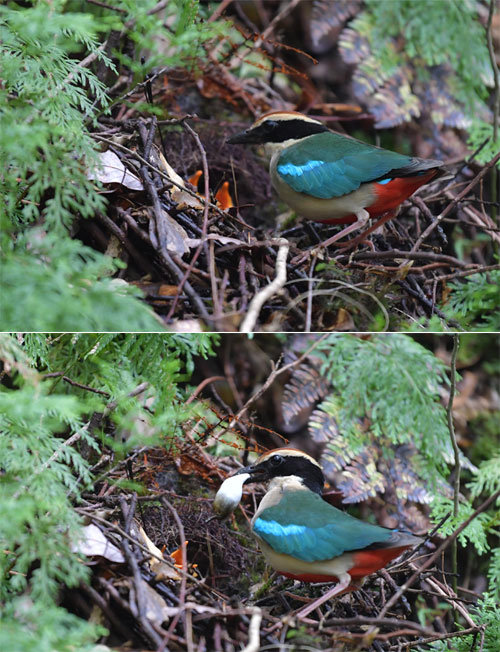
<svg viewBox="0 0 500 652"><path fill-rule="evenodd" d="M349 516L308 490L286 491L278 505L261 512L253 530L277 552L303 561L333 559L384 543L393 534Z"/></svg>

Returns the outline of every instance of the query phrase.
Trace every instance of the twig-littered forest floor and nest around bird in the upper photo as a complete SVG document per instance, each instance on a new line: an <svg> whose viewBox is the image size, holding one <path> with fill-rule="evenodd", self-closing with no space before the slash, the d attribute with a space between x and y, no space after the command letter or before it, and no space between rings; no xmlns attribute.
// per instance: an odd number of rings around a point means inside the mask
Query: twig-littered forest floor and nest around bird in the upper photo
<svg viewBox="0 0 500 652"><path fill-rule="evenodd" d="M449 95L434 98L435 104L417 98L418 127L407 122L391 80L378 89L383 101L374 100L375 89L366 99L370 111L364 110L355 92L359 70L331 49L340 29L328 36L330 48L314 63L300 47L279 51L284 74L277 75L271 38L280 20L281 41L306 47L299 36L301 14L288 15L289 9L274 19L266 12L258 39L248 36L240 46L223 39L222 60L205 53L192 70L159 70L117 101L94 133L108 210L80 220L74 235L121 258L126 266L120 278L139 287L173 330L399 330L417 323L425 328L433 315L455 329L443 313L450 282L498 269L500 235L488 197L500 155L485 166L473 162ZM243 18L232 20L245 34ZM309 17L304 29L313 51L318 24ZM271 70L256 64L256 56L265 56ZM241 62L253 76L238 76ZM330 72L322 76L316 68ZM117 97L132 86L128 78L114 81ZM144 96L168 118L143 117ZM449 175L421 188L369 242L344 241L311 254L338 227L292 218L255 148L226 143L275 109L307 110L341 133L439 157ZM431 112L443 114L438 125ZM275 277L280 281L268 292Z"/></svg>

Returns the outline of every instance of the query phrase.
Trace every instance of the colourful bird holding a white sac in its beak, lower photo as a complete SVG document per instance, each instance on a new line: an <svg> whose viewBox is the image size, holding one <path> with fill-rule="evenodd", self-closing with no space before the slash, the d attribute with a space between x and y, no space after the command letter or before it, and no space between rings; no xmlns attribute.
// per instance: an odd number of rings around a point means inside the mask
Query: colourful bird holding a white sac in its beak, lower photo
<svg viewBox="0 0 500 652"><path fill-rule="evenodd" d="M335 582L297 614L304 618L335 595L353 591L367 575L422 542L409 532L367 523L323 500L323 471L307 453L276 448L221 485L214 509L236 509L243 485L268 482L251 527L268 564L303 582Z"/></svg>

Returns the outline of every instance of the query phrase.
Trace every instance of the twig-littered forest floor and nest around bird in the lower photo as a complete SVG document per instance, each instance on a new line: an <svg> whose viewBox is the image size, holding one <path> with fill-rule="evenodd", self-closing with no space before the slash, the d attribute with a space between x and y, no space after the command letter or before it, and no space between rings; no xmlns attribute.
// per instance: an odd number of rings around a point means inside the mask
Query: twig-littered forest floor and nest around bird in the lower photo
<svg viewBox="0 0 500 652"><path fill-rule="evenodd" d="M432 336L427 337L432 344ZM183 439L166 448L142 446L120 461L104 453L95 460L94 490L84 494L77 508L87 523L85 554L94 560L92 580L88 586L66 590L64 606L104 624L110 634L103 642L113 649L382 652L428 649L425 644L432 641L471 634L482 649L485 628L472 615L484 576L463 550L460 567L467 570L461 570L461 576L467 578L455 593L445 553L458 531L438 536L425 501L405 501L399 512L401 522L423 537L418 548L366 578L360 590L326 603L301 621L293 612L321 595L325 586L280 578L266 567L250 532L264 488L245 490L234 515L216 518L212 503L217 489L247 463L249 453L289 442L306 445L304 427L318 398L311 383L319 388L320 379L311 368L297 371L306 360L302 356L272 369L267 356L274 353L264 339L226 336L218 360L199 361L194 377L198 386L191 398L205 396L206 409L185 424ZM294 346L303 344L297 339ZM439 345L436 352L449 356ZM231 360L229 367L224 360ZM463 448L471 445L475 415L497 404L478 361L471 359L462 369L462 396L454 407ZM232 369L226 379L223 369ZM297 375L290 383L293 370ZM226 403L228 378L239 397L233 409ZM294 416L285 437L280 431L287 411ZM255 415L252 423L250 414ZM214 436L212 428L221 423L227 425ZM212 424L208 430L207 424ZM100 468L107 470L99 475ZM409 469L395 470L391 482L397 484L401 472L400 489L416 496ZM123 490L127 486L128 495ZM343 498L359 491L359 478L344 482L343 492L332 491L335 488L330 485L327 498L340 507ZM361 516L375 516L376 522L394 527L386 512L388 494L383 500L371 495L357 500ZM488 505L481 505L471 520ZM459 631L453 622L460 623Z"/></svg>

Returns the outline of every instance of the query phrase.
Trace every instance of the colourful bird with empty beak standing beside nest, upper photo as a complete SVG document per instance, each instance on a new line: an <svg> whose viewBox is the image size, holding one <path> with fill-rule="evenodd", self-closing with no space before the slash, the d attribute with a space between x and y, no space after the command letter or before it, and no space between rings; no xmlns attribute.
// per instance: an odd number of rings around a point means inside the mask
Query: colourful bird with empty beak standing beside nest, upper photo
<svg viewBox="0 0 500 652"><path fill-rule="evenodd" d="M348 243L356 244L395 217L420 186L443 174L441 161L368 145L297 111L265 113L227 142L264 145L272 185L297 214L326 224L349 224L322 247L378 218Z"/></svg>

